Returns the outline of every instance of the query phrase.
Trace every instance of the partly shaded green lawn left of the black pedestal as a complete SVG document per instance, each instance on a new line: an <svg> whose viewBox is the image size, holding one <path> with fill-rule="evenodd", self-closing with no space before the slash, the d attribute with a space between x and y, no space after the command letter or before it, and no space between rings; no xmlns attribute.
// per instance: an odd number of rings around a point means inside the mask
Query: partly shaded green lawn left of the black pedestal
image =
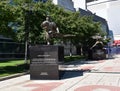
<svg viewBox="0 0 120 91"><path fill-rule="evenodd" d="M29 65L24 60L0 61L0 77L22 73L29 69Z"/></svg>

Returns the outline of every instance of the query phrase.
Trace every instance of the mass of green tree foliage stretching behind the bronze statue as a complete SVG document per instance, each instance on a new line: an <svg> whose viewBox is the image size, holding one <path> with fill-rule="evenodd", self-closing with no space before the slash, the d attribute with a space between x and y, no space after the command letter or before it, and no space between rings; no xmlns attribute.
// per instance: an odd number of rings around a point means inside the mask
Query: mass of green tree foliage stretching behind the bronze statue
<svg viewBox="0 0 120 91"><path fill-rule="evenodd" d="M91 47L95 40L92 36L100 34L104 38L104 33L101 32L101 24L94 22L92 16L81 16L79 12L65 11L48 0L46 3L33 2L32 0L13 0L13 4L1 2L1 34L15 38L17 41L24 42L25 22L29 32L29 42L31 44L44 43L43 29L40 24L45 20L47 15L50 15L59 27L60 33L63 35L74 35L72 38L61 38L62 41L71 40L73 44ZM30 2L28 2L30 1ZM3 4L5 3L5 4ZM26 13L28 12L28 13ZM8 18L9 17L9 18ZM8 24L12 22L17 24L16 32ZM4 27L3 27L4 26ZM11 31L11 33L10 33ZM14 35L14 37L12 36ZM58 41L59 38L54 38Z"/></svg>

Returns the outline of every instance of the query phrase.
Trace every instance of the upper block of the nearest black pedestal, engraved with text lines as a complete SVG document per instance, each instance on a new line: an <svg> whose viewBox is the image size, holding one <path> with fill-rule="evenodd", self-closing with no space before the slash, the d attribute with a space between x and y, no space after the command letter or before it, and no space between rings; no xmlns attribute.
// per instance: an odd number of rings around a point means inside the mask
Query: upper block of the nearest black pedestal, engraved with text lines
<svg viewBox="0 0 120 91"><path fill-rule="evenodd" d="M64 61L63 46L38 45L30 47L31 64L58 64Z"/></svg>

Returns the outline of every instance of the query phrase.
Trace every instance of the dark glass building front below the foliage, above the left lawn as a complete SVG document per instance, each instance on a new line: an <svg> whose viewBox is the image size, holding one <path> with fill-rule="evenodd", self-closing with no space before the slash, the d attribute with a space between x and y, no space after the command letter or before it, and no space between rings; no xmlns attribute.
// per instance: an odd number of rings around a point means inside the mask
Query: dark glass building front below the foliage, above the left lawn
<svg viewBox="0 0 120 91"><path fill-rule="evenodd" d="M0 60L24 58L24 46L23 43L0 42Z"/></svg>

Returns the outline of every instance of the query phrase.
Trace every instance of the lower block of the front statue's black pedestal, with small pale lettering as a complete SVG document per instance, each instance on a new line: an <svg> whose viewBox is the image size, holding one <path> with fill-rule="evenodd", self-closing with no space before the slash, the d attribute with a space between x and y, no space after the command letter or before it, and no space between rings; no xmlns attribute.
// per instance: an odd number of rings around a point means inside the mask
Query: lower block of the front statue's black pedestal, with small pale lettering
<svg viewBox="0 0 120 91"><path fill-rule="evenodd" d="M31 64L30 79L59 79L58 64Z"/></svg>

